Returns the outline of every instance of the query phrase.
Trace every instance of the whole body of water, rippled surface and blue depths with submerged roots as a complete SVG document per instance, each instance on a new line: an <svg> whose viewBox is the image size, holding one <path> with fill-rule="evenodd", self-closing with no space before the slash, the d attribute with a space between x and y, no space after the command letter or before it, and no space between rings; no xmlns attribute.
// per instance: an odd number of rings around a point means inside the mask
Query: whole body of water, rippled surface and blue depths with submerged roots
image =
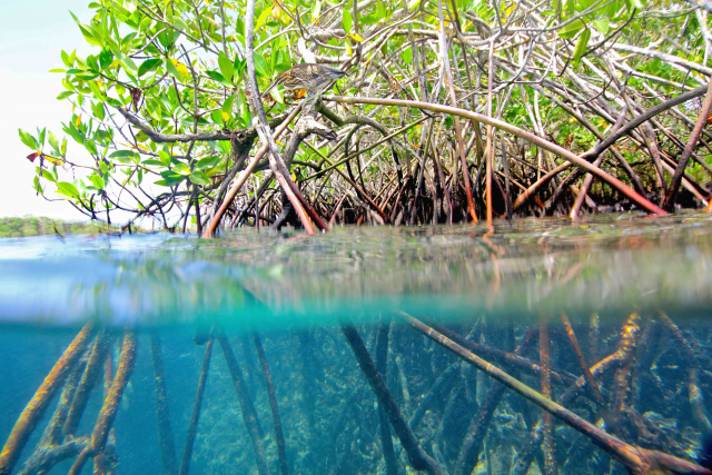
<svg viewBox="0 0 712 475"><path fill-rule="evenodd" d="M712 474L712 219L0 239L0 475Z"/></svg>

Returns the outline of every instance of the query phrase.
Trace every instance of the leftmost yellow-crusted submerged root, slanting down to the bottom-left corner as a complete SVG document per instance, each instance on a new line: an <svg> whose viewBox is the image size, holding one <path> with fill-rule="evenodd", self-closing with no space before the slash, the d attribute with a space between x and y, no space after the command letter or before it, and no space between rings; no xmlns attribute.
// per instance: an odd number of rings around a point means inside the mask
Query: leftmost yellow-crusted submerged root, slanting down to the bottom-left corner
<svg viewBox="0 0 712 475"><path fill-rule="evenodd" d="M2 447L2 453L0 453L0 475L9 475L12 472L12 467L18 462L24 444L27 444L30 434L40 422L52 396L62 386L65 378L87 348L93 327L93 323L90 321L79 331L14 423L14 427L12 427L10 436L4 447Z"/></svg>

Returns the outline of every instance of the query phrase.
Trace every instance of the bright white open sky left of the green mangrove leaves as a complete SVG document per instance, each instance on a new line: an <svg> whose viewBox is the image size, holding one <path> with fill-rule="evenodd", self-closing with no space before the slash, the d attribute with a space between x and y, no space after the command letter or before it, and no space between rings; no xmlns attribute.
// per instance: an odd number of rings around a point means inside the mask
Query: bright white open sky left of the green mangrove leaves
<svg viewBox="0 0 712 475"><path fill-rule="evenodd" d="M18 136L18 128L37 133L47 127L60 138L61 122L71 117L71 105L57 100L63 87L65 68L60 51L92 53L69 14L71 10L88 22L90 0L2 0L0 14L0 217L48 216L55 219L86 220L63 201L49 202L32 189L34 165L26 158L32 150ZM72 145L75 147L72 147ZM79 150L70 138L68 155ZM52 192L48 194L52 195Z"/></svg>

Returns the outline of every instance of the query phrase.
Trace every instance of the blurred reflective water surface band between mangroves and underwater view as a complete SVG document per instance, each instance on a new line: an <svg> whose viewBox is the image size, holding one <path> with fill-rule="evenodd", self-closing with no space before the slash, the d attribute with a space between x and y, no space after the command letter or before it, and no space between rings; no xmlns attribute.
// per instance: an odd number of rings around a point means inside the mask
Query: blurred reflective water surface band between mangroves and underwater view
<svg viewBox="0 0 712 475"><path fill-rule="evenodd" d="M0 240L0 320L113 326L334 324L712 307L712 218L605 215L424 228Z"/></svg>

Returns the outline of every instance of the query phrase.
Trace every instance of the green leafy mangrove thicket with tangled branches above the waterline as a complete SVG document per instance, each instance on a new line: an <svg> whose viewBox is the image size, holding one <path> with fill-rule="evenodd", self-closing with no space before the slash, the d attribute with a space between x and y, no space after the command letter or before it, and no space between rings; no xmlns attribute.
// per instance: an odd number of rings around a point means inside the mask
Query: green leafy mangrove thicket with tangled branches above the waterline
<svg viewBox="0 0 712 475"><path fill-rule="evenodd" d="M89 8L89 20L75 18L96 52L62 51L66 69L56 71L66 87L58 99L73 105L67 138L20 130L37 166L34 188L92 219L111 222L122 210L131 221L150 218L166 228L186 229L192 217L200 229L259 148L246 6L102 0ZM350 73L334 89L345 96L487 113L580 156L611 135L616 120L625 125L712 76L708 12L696 2L258 0L255 18L260 90L300 61L328 63ZM275 88L264 98L274 127L303 95ZM662 205L696 100L664 107L600 157L584 158L641 200ZM337 139L308 138L285 157L306 200L332 222L453 222L488 208L495 216L540 216L640 207L621 187L592 182L545 147L477 120L356 103L317 105L318 120ZM683 206L706 205L709 138L702 130L690 165L682 160ZM68 156L67 140L91 160ZM226 228L255 224L257 205L260 220L271 222L287 202L278 189L263 159L217 218ZM574 204L577 197L582 204Z"/></svg>

